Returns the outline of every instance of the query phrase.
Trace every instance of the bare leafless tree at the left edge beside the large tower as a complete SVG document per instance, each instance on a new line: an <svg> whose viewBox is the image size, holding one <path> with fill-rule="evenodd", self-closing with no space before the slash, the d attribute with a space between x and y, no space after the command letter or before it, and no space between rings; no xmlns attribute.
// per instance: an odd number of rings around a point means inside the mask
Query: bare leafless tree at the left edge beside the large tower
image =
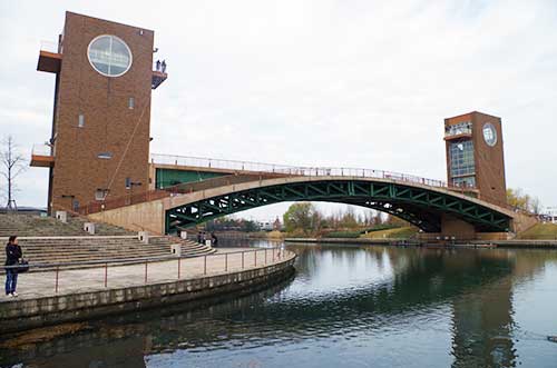
<svg viewBox="0 0 557 368"><path fill-rule="evenodd" d="M21 153L18 152L18 146L16 145L12 136L8 136L2 140L0 161L0 173L6 178L7 181L6 197L8 199L8 203L6 205L6 209L14 210L17 209L16 199L13 197L17 191L14 181L16 178L26 169L26 159Z"/></svg>

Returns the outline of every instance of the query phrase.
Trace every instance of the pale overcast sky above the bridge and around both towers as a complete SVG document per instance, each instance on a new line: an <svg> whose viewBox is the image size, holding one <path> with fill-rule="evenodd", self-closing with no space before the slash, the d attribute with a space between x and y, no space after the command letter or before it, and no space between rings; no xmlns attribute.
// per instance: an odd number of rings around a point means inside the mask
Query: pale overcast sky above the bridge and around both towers
<svg viewBox="0 0 557 368"><path fill-rule="evenodd" d="M443 119L477 110L502 119L507 186L557 206L556 1L0 1L0 136L28 158L66 10L155 30L152 152L446 179ZM17 185L46 206L47 169Z"/></svg>

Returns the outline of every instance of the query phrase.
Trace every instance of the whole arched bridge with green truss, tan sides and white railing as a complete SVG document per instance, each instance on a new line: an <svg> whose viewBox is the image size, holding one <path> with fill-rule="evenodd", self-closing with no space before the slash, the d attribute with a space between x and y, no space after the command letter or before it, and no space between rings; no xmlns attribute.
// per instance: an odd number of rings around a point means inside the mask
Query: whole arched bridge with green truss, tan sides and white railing
<svg viewBox="0 0 557 368"><path fill-rule="evenodd" d="M473 188L449 188L442 181L381 170L185 157L164 160L152 159L153 186L158 189L91 203L79 211L94 220L159 233L284 201L355 205L391 213L423 232L462 239L477 232L518 232L536 221L476 198Z"/></svg>

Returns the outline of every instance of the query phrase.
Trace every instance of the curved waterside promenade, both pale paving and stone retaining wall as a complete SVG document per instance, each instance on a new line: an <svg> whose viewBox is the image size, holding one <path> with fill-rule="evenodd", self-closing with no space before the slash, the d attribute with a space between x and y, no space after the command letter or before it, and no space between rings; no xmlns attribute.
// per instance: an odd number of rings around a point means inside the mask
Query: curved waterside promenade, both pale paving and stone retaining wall
<svg viewBox="0 0 557 368"><path fill-rule="evenodd" d="M20 296L0 299L0 331L248 292L280 282L294 271L296 256L287 250L240 250L147 266L60 270L58 276L56 271L22 273L18 281Z"/></svg>

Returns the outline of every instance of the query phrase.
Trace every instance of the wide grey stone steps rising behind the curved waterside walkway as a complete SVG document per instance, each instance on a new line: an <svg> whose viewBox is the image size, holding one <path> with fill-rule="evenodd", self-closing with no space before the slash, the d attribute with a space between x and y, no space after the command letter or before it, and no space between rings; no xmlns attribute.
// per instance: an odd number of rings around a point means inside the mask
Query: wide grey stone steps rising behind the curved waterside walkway
<svg viewBox="0 0 557 368"><path fill-rule="evenodd" d="M152 236L146 245L137 238L137 232L99 222L96 222L96 233L89 235L82 230L85 222L77 217L69 217L63 223L51 217L0 213L0 245L8 241L8 236L17 235L30 265L169 257L170 246L177 243L182 247L182 257L215 252L212 247L168 236ZM1 251L1 263L4 258L6 252ZM65 266L79 267L85 266Z"/></svg>

